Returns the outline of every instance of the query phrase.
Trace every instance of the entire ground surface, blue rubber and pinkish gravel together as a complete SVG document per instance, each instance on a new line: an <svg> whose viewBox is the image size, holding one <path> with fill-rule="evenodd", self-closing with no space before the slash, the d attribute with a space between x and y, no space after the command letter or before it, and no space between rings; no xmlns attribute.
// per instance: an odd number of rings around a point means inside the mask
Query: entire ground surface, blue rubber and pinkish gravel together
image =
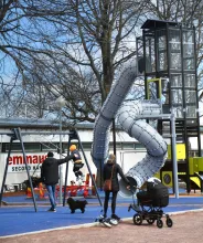
<svg viewBox="0 0 203 243"><path fill-rule="evenodd" d="M31 205L26 203L21 203L20 205L13 202L12 200L11 205L0 208L0 243L24 243L28 241L29 243L50 243L52 241L53 243L105 243L105 241L108 243L119 243L121 241L124 243L203 242L202 194L182 196L179 199L170 197L169 205L163 211L172 214L173 226L171 229L165 225L165 222L163 229L158 229L156 224L148 225L146 221L140 226L135 225L132 223L135 211L128 212L127 210L132 199L118 199L117 213L125 220L111 229L106 229L101 225L95 226L95 219L100 213L97 199L88 200L89 204L87 204L84 214L81 211L71 214L67 207L60 205L56 213L49 213L46 210L50 204L40 202L38 212L35 212L32 203ZM177 215L181 211L182 213L188 212ZM128 221L126 221L127 218ZM164 218L163 221L165 221ZM84 224L86 228L82 228ZM70 229L74 225L77 229Z"/></svg>

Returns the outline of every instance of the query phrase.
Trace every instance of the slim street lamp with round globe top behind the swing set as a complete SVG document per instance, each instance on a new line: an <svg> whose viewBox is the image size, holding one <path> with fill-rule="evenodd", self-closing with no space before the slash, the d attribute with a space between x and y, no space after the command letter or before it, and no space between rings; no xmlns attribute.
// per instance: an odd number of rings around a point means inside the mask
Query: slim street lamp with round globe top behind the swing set
<svg viewBox="0 0 203 243"><path fill-rule="evenodd" d="M65 99L60 96L55 101L60 108L60 159L62 159L62 108L65 106ZM62 187L63 187L63 168L60 166L60 203L62 203Z"/></svg>

